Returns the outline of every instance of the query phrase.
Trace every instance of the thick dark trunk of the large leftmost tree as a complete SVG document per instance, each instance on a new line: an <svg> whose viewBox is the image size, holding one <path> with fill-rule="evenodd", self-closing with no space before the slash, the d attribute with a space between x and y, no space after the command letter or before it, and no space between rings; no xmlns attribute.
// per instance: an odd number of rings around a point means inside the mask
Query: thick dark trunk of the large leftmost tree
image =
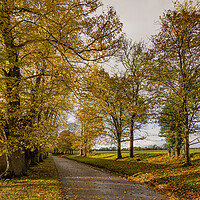
<svg viewBox="0 0 200 200"><path fill-rule="evenodd" d="M10 20L9 5L7 3L2 4L1 18L4 20L1 22L2 38L5 45L5 59L9 63L9 70L4 70L4 76L6 77L6 103L7 103L7 129L5 130L8 140L12 139L12 143L15 140L18 141L21 136L20 130L20 95L19 84L21 82L20 67L18 62L18 49L14 45L14 36L12 33L12 26ZM10 141L9 141L10 142ZM14 144L15 145L15 144ZM11 176L21 176L26 170L25 155L21 150L14 147L8 152L9 169L8 173Z"/></svg>

